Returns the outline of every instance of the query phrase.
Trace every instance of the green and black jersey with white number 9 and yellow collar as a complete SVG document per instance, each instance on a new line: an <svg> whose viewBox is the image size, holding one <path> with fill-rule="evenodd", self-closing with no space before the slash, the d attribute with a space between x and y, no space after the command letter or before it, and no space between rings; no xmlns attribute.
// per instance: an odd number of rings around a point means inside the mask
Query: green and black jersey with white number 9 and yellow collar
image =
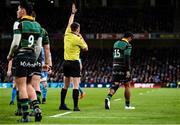
<svg viewBox="0 0 180 125"><path fill-rule="evenodd" d="M42 28L40 24L34 21L31 16L24 16L14 23L14 34L21 34L21 41L18 49L34 49L36 41L42 37Z"/></svg>

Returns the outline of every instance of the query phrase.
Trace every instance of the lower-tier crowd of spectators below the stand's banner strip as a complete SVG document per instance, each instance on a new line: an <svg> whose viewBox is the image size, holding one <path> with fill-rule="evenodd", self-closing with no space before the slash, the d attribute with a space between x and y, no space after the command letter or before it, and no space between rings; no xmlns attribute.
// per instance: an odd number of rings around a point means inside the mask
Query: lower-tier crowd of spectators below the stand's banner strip
<svg viewBox="0 0 180 125"><path fill-rule="evenodd" d="M63 81L63 51L53 50L53 71L49 82ZM162 56L163 55L163 56ZM0 81L10 82L6 77L7 64L5 55L1 54ZM82 83L112 82L112 50L89 49L82 56ZM176 83L180 81L180 51L174 48L146 49L135 48L132 54L132 78L138 83Z"/></svg>

